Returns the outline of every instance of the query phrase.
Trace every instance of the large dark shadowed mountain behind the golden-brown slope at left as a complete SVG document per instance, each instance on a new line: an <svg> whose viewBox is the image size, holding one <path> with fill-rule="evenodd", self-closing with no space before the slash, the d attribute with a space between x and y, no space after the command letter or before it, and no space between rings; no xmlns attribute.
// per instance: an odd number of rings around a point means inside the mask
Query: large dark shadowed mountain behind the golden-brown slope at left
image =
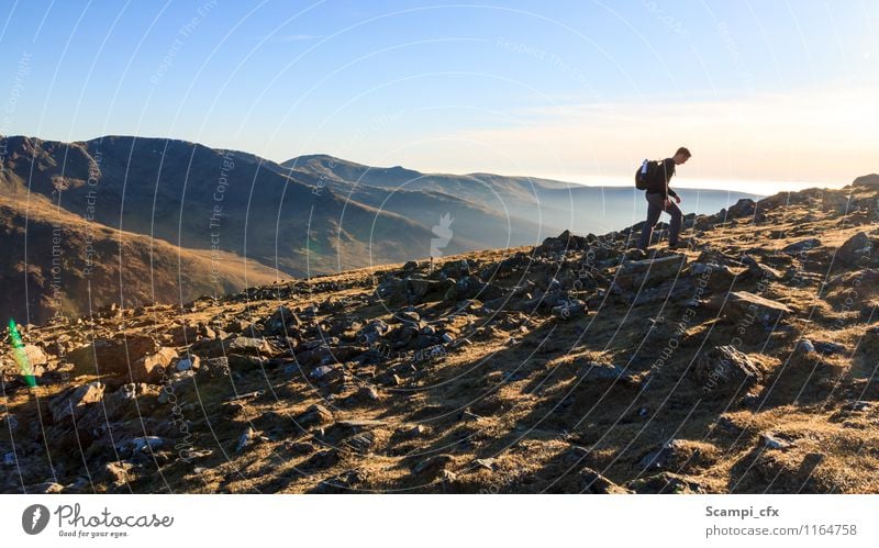
<svg viewBox="0 0 879 548"><path fill-rule="evenodd" d="M53 201L81 216L92 212L101 224L185 248L219 247L292 276L399 260L432 237L331 189L315 192L246 153L119 136L70 144L10 137L7 148L7 189L60 193Z"/></svg>

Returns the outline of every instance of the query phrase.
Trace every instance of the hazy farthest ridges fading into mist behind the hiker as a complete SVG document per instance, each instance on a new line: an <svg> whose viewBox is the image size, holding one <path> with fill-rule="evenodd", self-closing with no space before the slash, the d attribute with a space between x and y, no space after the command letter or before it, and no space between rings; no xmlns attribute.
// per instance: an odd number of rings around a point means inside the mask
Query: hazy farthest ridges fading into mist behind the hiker
<svg viewBox="0 0 879 548"><path fill-rule="evenodd" d="M400 166L364 166L327 155L299 156L281 166L288 174L323 181L340 192L348 192L358 201L404 215L407 212L411 215L412 211L431 211L435 215L431 204L439 194L480 204L483 210L493 211L500 220L476 212L471 215L475 222L464 227L461 233L489 236L493 245L483 247L500 247L498 237L502 241L509 238L510 245L515 246L537 243L548 234L565 230L580 234L609 232L628 226L646 214L644 192L635 189L634 184L625 188L587 187L534 177L422 174ZM418 193L403 198L400 193L404 191ZM683 189L679 193L685 199L681 208L697 214L714 213L743 198L760 198L746 192L700 189ZM413 199L421 201L412 203ZM455 213L454 209L450 211L456 219L470 216ZM498 231L502 234L498 235Z"/></svg>

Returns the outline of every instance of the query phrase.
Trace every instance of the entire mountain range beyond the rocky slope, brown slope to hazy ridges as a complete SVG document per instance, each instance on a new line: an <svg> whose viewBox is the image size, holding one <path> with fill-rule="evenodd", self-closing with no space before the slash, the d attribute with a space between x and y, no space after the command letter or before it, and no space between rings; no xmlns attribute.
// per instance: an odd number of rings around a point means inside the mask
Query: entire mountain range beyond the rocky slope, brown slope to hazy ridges
<svg viewBox="0 0 879 548"><path fill-rule="evenodd" d="M645 212L634 188L421 174L326 155L277 164L166 138L3 141L0 305L20 322L535 245L566 228L623 228ZM700 213L756 198L681 193Z"/></svg>

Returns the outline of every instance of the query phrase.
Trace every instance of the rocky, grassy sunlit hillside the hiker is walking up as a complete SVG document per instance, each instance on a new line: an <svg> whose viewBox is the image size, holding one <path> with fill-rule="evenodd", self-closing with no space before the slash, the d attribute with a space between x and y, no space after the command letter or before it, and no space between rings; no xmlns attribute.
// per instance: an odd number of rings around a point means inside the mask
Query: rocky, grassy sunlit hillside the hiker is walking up
<svg viewBox="0 0 879 548"><path fill-rule="evenodd" d="M0 491L879 492L878 203L869 176L676 251L565 233L20 326Z"/></svg>

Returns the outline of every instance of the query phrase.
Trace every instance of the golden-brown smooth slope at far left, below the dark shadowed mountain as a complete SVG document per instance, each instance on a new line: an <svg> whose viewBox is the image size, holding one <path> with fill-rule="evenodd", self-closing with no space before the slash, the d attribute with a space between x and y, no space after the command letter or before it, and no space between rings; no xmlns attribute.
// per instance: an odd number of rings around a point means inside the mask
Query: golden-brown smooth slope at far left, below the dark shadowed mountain
<svg viewBox="0 0 879 548"><path fill-rule="evenodd" d="M285 278L227 251L182 249L53 208L0 197L0 310L24 324L87 315L111 303L183 303Z"/></svg>

